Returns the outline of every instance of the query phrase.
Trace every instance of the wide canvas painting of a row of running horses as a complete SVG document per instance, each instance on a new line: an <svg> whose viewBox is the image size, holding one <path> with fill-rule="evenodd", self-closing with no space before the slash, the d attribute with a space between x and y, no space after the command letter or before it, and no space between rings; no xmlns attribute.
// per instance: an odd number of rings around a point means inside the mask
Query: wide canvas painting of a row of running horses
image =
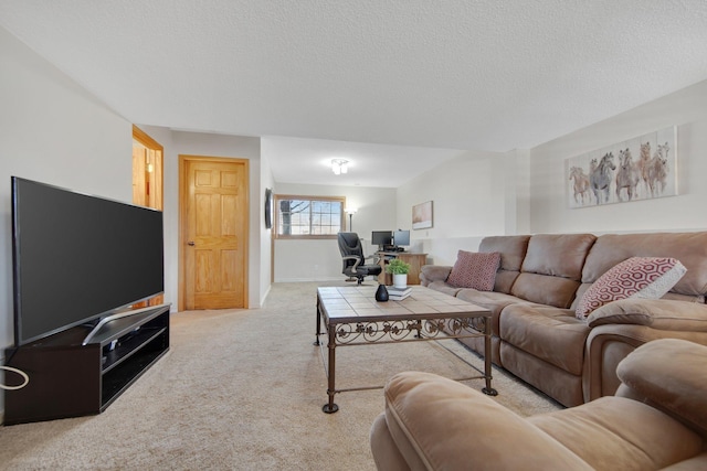
<svg viewBox="0 0 707 471"><path fill-rule="evenodd" d="M671 127L567 159L569 207L676 195L676 144Z"/></svg>

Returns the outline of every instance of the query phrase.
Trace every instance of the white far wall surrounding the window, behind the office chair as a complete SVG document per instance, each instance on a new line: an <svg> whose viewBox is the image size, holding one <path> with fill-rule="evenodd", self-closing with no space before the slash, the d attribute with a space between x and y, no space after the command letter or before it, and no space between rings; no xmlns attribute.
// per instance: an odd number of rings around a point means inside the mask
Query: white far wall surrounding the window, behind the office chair
<svg viewBox="0 0 707 471"><path fill-rule="evenodd" d="M378 247L370 245L372 231L392 231L395 222L395 190L366 186L300 185L275 183L276 194L305 196L345 196L348 207L357 207L354 232L363 238L365 254ZM349 217L346 217L349 229ZM340 280L341 254L336 239L275 240L275 281Z"/></svg>

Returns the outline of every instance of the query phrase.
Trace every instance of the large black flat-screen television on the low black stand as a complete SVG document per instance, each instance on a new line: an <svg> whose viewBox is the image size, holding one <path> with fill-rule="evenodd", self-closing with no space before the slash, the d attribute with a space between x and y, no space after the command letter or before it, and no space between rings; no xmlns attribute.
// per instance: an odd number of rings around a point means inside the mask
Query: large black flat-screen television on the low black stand
<svg viewBox="0 0 707 471"><path fill-rule="evenodd" d="M165 290L162 212L12 176L14 343Z"/></svg>

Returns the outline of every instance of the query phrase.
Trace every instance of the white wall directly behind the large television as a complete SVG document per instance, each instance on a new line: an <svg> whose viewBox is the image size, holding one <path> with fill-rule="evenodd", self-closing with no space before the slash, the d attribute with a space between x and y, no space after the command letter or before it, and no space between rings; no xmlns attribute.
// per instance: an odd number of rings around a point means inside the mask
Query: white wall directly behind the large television
<svg viewBox="0 0 707 471"><path fill-rule="evenodd" d="M130 202L133 128L3 29L0 83L0 347L6 347L14 343L10 176Z"/></svg>

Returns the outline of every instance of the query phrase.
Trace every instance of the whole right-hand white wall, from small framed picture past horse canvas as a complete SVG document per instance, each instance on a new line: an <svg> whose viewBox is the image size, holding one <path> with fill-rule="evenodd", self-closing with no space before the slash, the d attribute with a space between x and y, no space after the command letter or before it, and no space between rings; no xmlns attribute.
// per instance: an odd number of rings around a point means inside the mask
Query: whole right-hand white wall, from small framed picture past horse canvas
<svg viewBox="0 0 707 471"><path fill-rule="evenodd" d="M564 160L677 125L679 195L570 210ZM506 154L467 152L398 189L398 221L432 200L434 226L413 231L435 265L475 250L486 235L699 231L707 228L707 82L568 136Z"/></svg>

